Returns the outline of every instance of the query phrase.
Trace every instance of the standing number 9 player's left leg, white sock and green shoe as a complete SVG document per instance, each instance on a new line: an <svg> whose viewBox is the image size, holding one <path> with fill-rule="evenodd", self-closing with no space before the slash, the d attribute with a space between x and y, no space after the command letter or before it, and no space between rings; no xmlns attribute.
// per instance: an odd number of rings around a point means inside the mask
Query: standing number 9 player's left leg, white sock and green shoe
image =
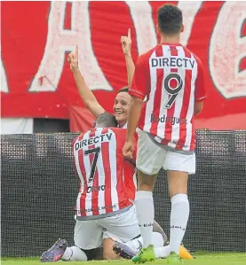
<svg viewBox="0 0 246 265"><path fill-rule="evenodd" d="M131 260L133 262L146 262L155 260L154 246L151 245L154 222L153 189L155 186L155 175L146 175L138 170L138 191L136 193L135 205L139 219L139 228L143 237L143 248Z"/></svg>

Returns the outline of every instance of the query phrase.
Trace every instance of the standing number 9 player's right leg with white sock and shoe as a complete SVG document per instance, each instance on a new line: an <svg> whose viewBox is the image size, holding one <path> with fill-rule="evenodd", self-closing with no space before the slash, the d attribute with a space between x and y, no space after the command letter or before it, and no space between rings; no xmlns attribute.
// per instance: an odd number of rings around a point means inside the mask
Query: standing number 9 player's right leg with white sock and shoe
<svg viewBox="0 0 246 265"><path fill-rule="evenodd" d="M169 192L171 197L171 230L168 263L179 262L179 246L184 238L189 216L187 198L188 174L182 171L168 170Z"/></svg>

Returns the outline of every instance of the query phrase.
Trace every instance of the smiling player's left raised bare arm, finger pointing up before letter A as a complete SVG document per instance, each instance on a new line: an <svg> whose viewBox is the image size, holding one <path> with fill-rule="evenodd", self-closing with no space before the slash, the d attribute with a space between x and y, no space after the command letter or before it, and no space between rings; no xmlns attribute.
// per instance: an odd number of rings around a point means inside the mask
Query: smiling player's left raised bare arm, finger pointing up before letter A
<svg viewBox="0 0 246 265"><path fill-rule="evenodd" d="M101 113L105 113L104 108L99 105L97 98L86 85L86 82L83 79L83 75L79 70L78 46L76 46L75 52L70 52L68 54L67 61L70 64L70 69L74 74L77 89L79 91L80 97L83 100L84 105L86 105L86 107L95 117L98 117Z"/></svg>

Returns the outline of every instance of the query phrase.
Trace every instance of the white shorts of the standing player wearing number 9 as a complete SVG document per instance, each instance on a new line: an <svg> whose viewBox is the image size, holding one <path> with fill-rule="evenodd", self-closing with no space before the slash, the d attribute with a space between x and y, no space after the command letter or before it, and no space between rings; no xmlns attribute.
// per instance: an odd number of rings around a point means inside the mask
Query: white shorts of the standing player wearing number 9
<svg viewBox="0 0 246 265"><path fill-rule="evenodd" d="M146 132L139 134L136 167L147 175L155 175L161 168L195 173L195 154L182 154L165 150L155 144Z"/></svg>

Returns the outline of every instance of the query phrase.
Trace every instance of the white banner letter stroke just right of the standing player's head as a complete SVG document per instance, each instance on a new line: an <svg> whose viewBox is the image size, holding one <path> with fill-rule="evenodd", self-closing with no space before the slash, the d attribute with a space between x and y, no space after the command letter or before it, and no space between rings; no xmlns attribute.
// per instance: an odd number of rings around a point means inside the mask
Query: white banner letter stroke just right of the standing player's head
<svg viewBox="0 0 246 265"><path fill-rule="evenodd" d="M201 6L202 1L179 1L178 7L182 10L183 24L185 27L184 33L180 35L180 43L185 46L188 44L195 16L200 11Z"/></svg>

